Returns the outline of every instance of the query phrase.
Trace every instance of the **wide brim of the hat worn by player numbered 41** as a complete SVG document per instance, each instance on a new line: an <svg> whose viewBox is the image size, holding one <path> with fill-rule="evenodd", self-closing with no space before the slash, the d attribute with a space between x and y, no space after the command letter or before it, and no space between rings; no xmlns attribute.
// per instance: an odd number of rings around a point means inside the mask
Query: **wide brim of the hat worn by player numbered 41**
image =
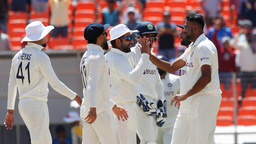
<svg viewBox="0 0 256 144"><path fill-rule="evenodd" d="M47 34L50 33L51 30L53 30L54 27L53 26L46 26L44 28L44 30L39 33L39 34L36 34L36 35L31 35L31 36L25 36L20 43L23 43L24 41L26 42L31 42L31 41L38 41L38 40L41 40L43 39L44 37L46 37Z"/></svg>

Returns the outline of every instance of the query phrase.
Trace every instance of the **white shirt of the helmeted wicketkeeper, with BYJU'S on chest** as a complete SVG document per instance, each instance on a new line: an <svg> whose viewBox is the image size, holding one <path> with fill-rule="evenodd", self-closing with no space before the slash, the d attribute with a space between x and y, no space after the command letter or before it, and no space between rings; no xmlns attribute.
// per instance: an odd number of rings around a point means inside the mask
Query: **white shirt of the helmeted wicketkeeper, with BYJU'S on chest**
<svg viewBox="0 0 256 144"><path fill-rule="evenodd" d="M129 64L132 68L135 68L140 61L141 51L138 45L139 43L137 43L135 47L131 48L131 56L128 57ZM163 84L157 67L151 61L148 61L139 82L135 85L138 93L147 95L154 99L164 100Z"/></svg>

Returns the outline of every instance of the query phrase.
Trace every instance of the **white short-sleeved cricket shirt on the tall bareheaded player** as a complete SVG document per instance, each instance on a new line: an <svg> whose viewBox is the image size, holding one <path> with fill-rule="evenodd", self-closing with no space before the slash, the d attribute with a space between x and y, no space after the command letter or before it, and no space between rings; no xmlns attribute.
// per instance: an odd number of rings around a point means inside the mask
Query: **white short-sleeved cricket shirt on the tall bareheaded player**
<svg viewBox="0 0 256 144"><path fill-rule="evenodd" d="M191 43L180 58L186 62L187 90L192 89L201 77L201 66L211 66L211 82L193 96L202 93L221 94L217 50L214 44L204 34L200 35L195 43Z"/></svg>

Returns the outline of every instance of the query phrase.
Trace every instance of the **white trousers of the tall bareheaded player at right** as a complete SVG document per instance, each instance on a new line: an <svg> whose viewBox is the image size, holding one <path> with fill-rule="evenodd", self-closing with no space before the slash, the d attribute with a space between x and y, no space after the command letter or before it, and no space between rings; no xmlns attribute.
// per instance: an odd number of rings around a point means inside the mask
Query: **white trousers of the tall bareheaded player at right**
<svg viewBox="0 0 256 144"><path fill-rule="evenodd" d="M215 144L214 132L221 94L199 94L192 98L190 114L179 114L171 144Z"/></svg>

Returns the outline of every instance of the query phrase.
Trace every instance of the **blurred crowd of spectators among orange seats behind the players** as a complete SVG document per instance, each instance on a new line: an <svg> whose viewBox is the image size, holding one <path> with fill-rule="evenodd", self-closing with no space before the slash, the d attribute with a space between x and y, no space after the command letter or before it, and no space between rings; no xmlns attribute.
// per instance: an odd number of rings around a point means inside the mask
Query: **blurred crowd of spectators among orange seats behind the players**
<svg viewBox="0 0 256 144"><path fill-rule="evenodd" d="M186 49L176 24L184 24L191 13L204 15L205 35L217 48L223 90L232 91L232 73L241 79L243 105L248 86L256 91L256 0L1 0L0 51L20 50L24 27L36 20L55 27L46 50L85 50L83 30L92 22L124 23L134 30L139 22L150 21L159 32L154 52L172 61Z"/></svg>

